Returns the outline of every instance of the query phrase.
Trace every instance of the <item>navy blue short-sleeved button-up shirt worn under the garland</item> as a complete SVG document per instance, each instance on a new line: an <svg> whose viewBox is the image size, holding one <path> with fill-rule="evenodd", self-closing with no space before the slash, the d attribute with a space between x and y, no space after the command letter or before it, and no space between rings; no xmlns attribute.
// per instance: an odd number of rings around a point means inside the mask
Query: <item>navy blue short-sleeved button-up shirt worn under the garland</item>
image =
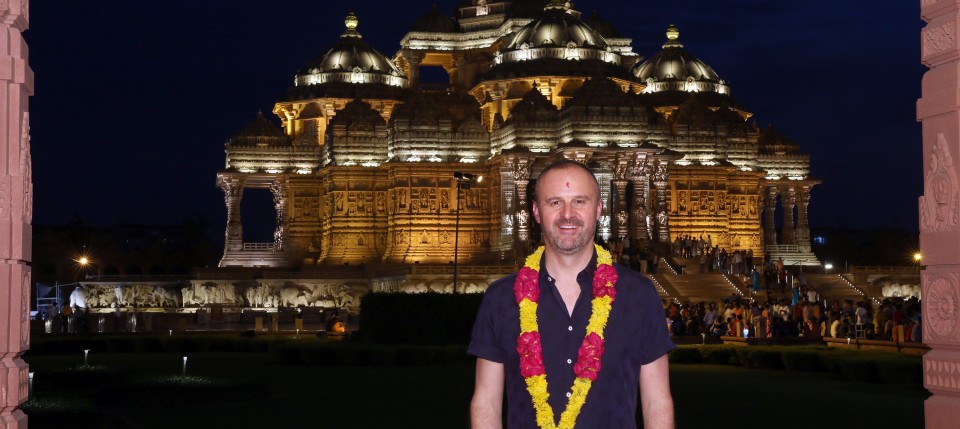
<svg viewBox="0 0 960 429"><path fill-rule="evenodd" d="M550 394L547 401L557 421L566 409L567 395L576 378L573 365L592 311L596 259L594 253L590 264L577 276L581 291L572 316L547 272L546 260L540 265L537 318ZM578 428L636 428L640 366L674 348L653 283L636 271L618 264L614 267L618 276L617 296L604 331L601 369L577 418ZM467 353L504 365L507 427L536 428L536 413L520 375L517 353L520 310L513 294L516 277L513 274L502 278L487 288Z"/></svg>

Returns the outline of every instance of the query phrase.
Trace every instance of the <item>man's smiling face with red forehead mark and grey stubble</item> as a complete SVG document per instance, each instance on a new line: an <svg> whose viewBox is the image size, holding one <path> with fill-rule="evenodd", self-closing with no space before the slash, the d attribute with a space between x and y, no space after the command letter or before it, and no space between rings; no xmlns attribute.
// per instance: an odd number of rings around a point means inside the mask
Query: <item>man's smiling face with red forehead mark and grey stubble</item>
<svg viewBox="0 0 960 429"><path fill-rule="evenodd" d="M590 173L577 167L550 170L537 181L533 217L552 250L575 255L593 249L600 196Z"/></svg>

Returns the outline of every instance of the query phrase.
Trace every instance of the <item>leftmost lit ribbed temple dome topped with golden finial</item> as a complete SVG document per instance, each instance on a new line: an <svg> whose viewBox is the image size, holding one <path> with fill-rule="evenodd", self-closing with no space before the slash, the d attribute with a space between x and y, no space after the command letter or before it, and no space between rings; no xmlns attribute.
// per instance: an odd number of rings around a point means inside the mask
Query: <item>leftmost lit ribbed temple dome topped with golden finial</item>
<svg viewBox="0 0 960 429"><path fill-rule="evenodd" d="M384 84L406 88L409 83L403 72L362 40L356 28L357 17L350 13L344 20L347 27L340 40L323 55L310 61L297 73L294 88L327 83Z"/></svg>

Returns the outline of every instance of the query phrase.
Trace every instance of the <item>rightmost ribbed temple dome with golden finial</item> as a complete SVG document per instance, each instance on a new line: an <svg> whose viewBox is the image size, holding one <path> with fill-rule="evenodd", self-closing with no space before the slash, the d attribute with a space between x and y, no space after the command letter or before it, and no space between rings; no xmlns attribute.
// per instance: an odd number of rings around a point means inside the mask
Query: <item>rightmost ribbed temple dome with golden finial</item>
<svg viewBox="0 0 960 429"><path fill-rule="evenodd" d="M713 68L687 53L677 40L680 31L675 25L667 28L667 42L653 58L633 69L638 80L646 82L644 93L664 91L714 92L730 95L730 87Z"/></svg>

